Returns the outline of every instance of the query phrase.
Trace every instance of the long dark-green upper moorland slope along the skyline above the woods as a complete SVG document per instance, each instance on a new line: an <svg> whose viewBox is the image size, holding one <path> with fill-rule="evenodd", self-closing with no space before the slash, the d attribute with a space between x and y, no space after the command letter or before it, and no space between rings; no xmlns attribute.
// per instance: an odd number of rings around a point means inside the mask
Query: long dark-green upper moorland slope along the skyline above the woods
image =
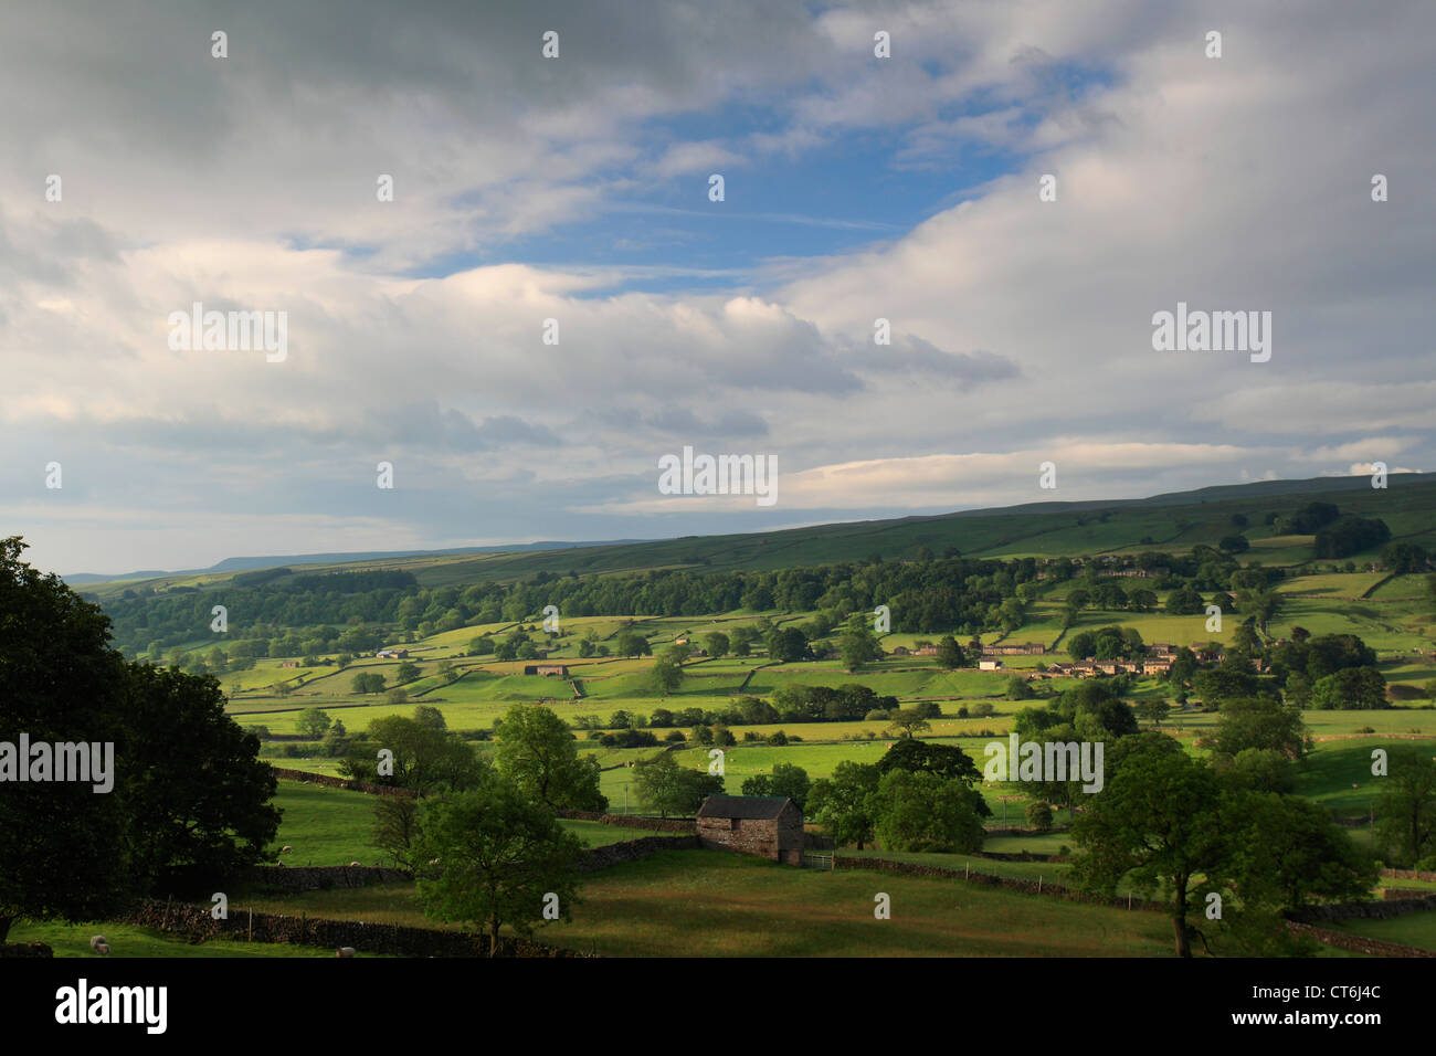
<svg viewBox="0 0 1436 1056"><path fill-rule="evenodd" d="M1215 546L1231 534L1251 543L1245 560L1301 565L1314 555L1311 536L1277 536L1268 514L1291 514L1310 501L1327 501L1343 514L1380 517L1396 539L1436 550L1436 474L1393 474L1377 490L1367 477L1315 477L1226 484L1149 499L1083 503L1030 503L964 510L931 517L853 522L728 536L613 543L530 543L441 552L240 557L214 569L167 575L146 582L159 589L211 586L238 570L325 565L332 569L404 569L424 586L511 582L540 572L579 575L665 568L770 570L834 562L910 560L928 550L955 549L972 557L1077 556L1139 550L1185 552ZM1239 519L1245 517L1245 526ZM1236 519L1236 520L1234 520ZM69 578L73 582L73 578ZM89 592L118 595L135 580L109 582Z"/></svg>

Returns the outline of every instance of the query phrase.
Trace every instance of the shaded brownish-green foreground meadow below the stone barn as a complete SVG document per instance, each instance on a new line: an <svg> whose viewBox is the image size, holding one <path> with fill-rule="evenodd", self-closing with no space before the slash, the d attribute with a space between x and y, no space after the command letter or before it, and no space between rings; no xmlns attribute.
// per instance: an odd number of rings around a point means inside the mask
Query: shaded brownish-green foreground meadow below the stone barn
<svg viewBox="0 0 1436 1056"><path fill-rule="evenodd" d="M877 892L892 899L890 920L873 917ZM572 922L541 927L536 938L615 957L1172 954L1162 914L961 881L794 869L721 851L669 851L589 874L582 898ZM306 892L253 908L435 927L412 885Z"/></svg>

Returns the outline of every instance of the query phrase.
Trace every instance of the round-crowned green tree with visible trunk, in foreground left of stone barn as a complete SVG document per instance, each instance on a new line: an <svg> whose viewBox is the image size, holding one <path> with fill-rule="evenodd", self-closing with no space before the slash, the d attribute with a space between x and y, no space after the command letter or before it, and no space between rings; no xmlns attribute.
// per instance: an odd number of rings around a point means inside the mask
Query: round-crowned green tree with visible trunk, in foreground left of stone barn
<svg viewBox="0 0 1436 1056"><path fill-rule="evenodd" d="M531 934L550 895L557 895L559 918L572 920L583 845L503 776L428 802L418 848L419 861L438 859L416 878L425 915L487 928L491 957L498 954L500 928Z"/></svg>

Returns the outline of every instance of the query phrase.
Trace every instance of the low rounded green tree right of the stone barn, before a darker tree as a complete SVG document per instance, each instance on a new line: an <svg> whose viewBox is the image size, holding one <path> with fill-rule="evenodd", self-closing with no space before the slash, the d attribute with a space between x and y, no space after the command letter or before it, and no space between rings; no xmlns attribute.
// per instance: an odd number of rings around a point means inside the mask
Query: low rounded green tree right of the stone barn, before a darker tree
<svg viewBox="0 0 1436 1056"><path fill-rule="evenodd" d="M890 770L873 795L875 830L886 851L965 853L982 846L981 793L935 773Z"/></svg>

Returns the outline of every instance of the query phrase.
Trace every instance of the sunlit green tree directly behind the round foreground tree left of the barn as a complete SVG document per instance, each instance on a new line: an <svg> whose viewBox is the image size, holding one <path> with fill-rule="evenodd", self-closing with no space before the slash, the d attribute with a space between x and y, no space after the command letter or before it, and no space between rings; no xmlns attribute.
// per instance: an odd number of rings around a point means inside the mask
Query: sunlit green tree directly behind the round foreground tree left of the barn
<svg viewBox="0 0 1436 1056"><path fill-rule="evenodd" d="M498 769L550 810L607 810L599 792L599 761L579 756L579 744L550 708L516 704L498 734Z"/></svg>

